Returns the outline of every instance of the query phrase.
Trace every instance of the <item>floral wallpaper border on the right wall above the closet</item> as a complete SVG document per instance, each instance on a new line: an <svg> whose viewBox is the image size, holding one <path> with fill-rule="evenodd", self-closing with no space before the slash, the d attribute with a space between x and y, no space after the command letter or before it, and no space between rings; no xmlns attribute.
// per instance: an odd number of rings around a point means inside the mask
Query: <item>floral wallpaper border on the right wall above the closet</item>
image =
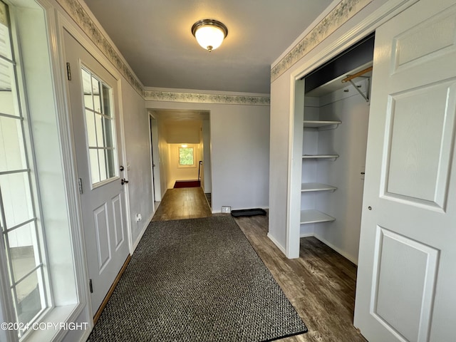
<svg viewBox="0 0 456 342"><path fill-rule="evenodd" d="M341 0L312 30L271 69L271 83L279 78L309 51L324 41L373 0Z"/></svg>

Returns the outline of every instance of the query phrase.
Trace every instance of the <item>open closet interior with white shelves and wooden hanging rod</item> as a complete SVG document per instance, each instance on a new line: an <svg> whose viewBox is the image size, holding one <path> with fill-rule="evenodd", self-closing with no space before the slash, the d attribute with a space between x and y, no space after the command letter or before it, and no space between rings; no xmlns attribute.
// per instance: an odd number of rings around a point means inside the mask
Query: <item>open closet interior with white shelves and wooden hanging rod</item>
<svg viewBox="0 0 456 342"><path fill-rule="evenodd" d="M300 237L314 236L356 264L373 40L304 77Z"/></svg>

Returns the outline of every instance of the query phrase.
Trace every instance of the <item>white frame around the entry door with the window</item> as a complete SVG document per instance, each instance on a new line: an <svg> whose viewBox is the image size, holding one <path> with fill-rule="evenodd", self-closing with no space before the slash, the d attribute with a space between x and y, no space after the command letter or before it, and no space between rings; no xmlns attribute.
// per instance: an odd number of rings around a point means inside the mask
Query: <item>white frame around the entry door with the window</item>
<svg viewBox="0 0 456 342"><path fill-rule="evenodd" d="M122 153L122 160L119 160L119 165L126 165L126 146L125 146L125 126L124 126L124 120L123 120L123 100L122 100L122 87L121 87L121 76L118 70L113 67L113 65L108 61L105 56L103 56L100 51L98 51L97 46L95 44L88 40L88 38L85 36L85 34L81 31L81 28L75 27L73 24L71 24L71 21L68 21L66 16L63 16L62 14L58 14L58 36L59 38L63 38L63 32L67 31L73 38L81 44L83 48L90 53L93 58L95 58L98 63L100 63L114 78L115 82L117 83L118 87L118 107L117 108L117 115L119 117L119 126L118 130L120 130L120 137L121 141L117 142L118 143L118 148L121 149ZM76 223L73 226L72 232L75 234L74 239L76 239L75 243L78 244L78 247L81 251L81 254L75 255L75 259L78 259L78 267L76 268L76 276L78 278L78 291L81 294L81 301L85 302L86 308L83 308L81 306L81 309L78 310L78 313L81 313L84 309L88 310L88 323L90 326L90 330L93 327L93 316L95 315L95 312L93 311L93 306L90 301L90 291L89 291L89 272L88 272L88 260L87 260L87 253L86 253L86 244L84 240L84 232L83 232L83 210L82 210L82 204L81 204L81 197L78 192L78 165L76 162L76 146L75 146L75 136L73 132L73 123L72 123L72 118L71 118L71 105L70 105L70 95L68 93L68 87L66 82L67 81L67 74L66 74L66 52L65 52L65 46L64 44L61 44L61 46L58 49L58 54L59 58L58 60L60 61L60 73L61 73L61 83L59 86L61 89L61 94L63 96L62 103L64 103L64 113L66 114L65 120L62 120L61 125L65 128L65 138L66 138L66 145L68 146L68 150L70 153L68 154L63 154L63 160L65 160L66 166L68 170L71 170L71 174L68 175L68 187L71 187L71 192L69 192L69 195L71 195L73 199L72 205L69 207L69 211L71 212L72 217L74 217L74 222ZM78 66L72 66L72 72L79 72L78 71ZM60 88L59 87L59 88ZM123 176L128 179L128 170L127 167L125 167L125 171ZM132 240L132 234L131 234L131 224L130 224L130 200L129 200L129 189L128 187L125 187L124 190L124 201L125 201L125 220L126 220L126 229L127 229L127 239L128 239L128 249L129 253L132 254L133 251L133 240ZM75 254L78 254L75 251ZM83 296L83 298L82 298ZM75 313L76 314L76 313Z"/></svg>

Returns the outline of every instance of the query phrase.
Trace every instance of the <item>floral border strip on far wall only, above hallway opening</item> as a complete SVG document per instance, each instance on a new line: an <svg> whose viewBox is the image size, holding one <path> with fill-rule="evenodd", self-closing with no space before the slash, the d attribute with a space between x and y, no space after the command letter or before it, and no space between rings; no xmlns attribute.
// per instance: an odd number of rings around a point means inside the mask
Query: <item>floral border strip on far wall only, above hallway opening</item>
<svg viewBox="0 0 456 342"><path fill-rule="evenodd" d="M220 95L177 93L172 91L145 90L146 101L214 103L223 105L270 105L269 96Z"/></svg>

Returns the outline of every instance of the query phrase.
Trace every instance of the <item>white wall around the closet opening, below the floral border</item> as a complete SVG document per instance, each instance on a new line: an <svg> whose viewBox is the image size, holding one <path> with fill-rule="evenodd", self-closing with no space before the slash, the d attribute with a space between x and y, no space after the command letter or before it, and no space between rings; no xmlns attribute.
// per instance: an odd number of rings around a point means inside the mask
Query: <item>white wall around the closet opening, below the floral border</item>
<svg viewBox="0 0 456 342"><path fill-rule="evenodd" d="M281 248L287 249L287 213L289 208L289 167L291 145L293 141L291 131L293 123L294 106L294 78L298 74L306 75L321 65L324 61L336 56L352 43L356 37L348 37L347 33L356 30L358 24L368 18L376 10L387 4L386 0L373 0L365 6L358 14L348 19L345 24L339 26L325 40L318 43L315 48L308 51L306 56L294 63L288 70L284 71L271 83L271 162L269 164L270 192L269 192L269 237ZM380 12L376 12L380 13ZM379 14L380 16L380 14ZM371 26L376 21L372 20ZM331 25L332 23L328 23ZM373 28L372 28L373 29ZM354 32L354 31L353 31ZM357 40L366 36L371 31L362 31L358 34ZM353 39L353 41L350 41ZM343 46L343 44L349 44ZM299 232L298 232L299 233ZM290 241L290 239L288 239Z"/></svg>

